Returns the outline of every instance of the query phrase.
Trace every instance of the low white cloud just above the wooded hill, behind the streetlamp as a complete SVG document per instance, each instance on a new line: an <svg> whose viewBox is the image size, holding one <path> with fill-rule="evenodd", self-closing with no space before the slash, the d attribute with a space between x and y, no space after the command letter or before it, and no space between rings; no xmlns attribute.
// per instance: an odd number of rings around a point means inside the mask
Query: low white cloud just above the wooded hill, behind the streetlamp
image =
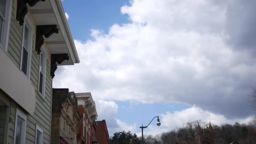
<svg viewBox="0 0 256 144"><path fill-rule="evenodd" d="M195 120L202 120L203 122L214 125L221 124L234 124L238 123L248 123L251 120L251 117L246 118L234 118L228 119L224 115L219 115L213 112L205 111L199 107L190 107L181 111L175 112L166 112L165 114L160 115L161 125L158 127L156 124L152 123L148 128L144 129L144 134L146 135L157 135L162 132L167 132L174 130L176 128L182 128L187 122L192 122ZM137 134L140 136L141 131L138 131Z"/></svg>

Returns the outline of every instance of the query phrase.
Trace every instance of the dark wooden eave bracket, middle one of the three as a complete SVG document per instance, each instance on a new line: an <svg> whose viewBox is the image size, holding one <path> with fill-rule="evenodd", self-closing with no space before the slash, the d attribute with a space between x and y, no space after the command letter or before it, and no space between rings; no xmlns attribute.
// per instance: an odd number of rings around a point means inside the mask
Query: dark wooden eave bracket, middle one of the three
<svg viewBox="0 0 256 144"><path fill-rule="evenodd" d="M37 51L37 54L40 54L41 46L44 43L43 35L47 38L50 37L53 33L59 33L57 25L37 26L37 34L35 38L35 51Z"/></svg>

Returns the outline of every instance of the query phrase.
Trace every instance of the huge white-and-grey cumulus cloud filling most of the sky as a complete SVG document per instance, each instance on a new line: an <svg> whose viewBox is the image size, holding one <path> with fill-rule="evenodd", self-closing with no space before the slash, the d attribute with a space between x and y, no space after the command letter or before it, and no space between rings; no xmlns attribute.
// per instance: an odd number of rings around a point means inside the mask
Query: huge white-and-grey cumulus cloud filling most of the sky
<svg viewBox="0 0 256 144"><path fill-rule="evenodd" d="M181 102L221 120L248 117L256 59L243 36L254 37L255 18L246 16L256 11L241 2L131 0L121 8L130 23L75 40L81 62L62 67L53 86L107 101Z"/></svg>

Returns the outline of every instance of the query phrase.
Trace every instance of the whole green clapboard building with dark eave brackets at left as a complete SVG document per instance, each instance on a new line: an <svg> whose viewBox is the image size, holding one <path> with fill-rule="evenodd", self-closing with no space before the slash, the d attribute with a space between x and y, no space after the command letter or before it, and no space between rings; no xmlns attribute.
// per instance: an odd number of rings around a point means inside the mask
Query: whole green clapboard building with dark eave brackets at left
<svg viewBox="0 0 256 144"><path fill-rule="evenodd" d="M61 0L0 8L0 143L49 144L56 63L79 63Z"/></svg>

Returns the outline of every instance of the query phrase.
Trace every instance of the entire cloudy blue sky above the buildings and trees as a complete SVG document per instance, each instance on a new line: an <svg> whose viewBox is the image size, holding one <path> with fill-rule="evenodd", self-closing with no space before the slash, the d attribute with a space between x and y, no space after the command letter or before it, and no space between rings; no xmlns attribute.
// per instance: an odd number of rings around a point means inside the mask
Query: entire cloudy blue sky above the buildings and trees
<svg viewBox="0 0 256 144"><path fill-rule="evenodd" d="M255 0L62 0L80 64L54 88L91 92L109 135L155 119L157 135L203 120L247 123L256 80Z"/></svg>

